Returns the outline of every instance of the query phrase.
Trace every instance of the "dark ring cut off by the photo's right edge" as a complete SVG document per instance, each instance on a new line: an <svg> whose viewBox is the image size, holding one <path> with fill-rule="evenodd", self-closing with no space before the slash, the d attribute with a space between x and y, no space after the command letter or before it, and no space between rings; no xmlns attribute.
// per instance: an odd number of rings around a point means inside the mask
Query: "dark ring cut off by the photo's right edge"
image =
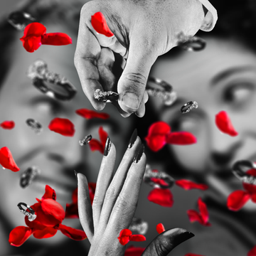
<svg viewBox="0 0 256 256"><path fill-rule="evenodd" d="M244 183L249 183L256 185L256 177L250 174L246 174L245 171L242 171L242 167L247 167L248 169L255 169L256 164L253 161L249 160L240 160L236 161L235 164L232 166L233 174L240 179L240 181Z"/></svg>

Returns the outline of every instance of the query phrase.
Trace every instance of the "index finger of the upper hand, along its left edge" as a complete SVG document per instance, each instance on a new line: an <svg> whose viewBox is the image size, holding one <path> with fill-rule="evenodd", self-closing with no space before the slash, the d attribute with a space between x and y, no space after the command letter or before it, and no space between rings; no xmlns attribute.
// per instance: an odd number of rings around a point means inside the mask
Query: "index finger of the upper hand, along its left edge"
<svg viewBox="0 0 256 256"><path fill-rule="evenodd" d="M86 7L83 6L81 10L74 63L83 92L85 92L95 110L102 110L105 107L105 102L100 102L94 98L95 90L100 89L103 91L102 85L100 85L100 73L97 69L97 60L100 58L101 47L87 23L91 19L91 11L88 11L90 10L88 4L90 2L85 4Z"/></svg>

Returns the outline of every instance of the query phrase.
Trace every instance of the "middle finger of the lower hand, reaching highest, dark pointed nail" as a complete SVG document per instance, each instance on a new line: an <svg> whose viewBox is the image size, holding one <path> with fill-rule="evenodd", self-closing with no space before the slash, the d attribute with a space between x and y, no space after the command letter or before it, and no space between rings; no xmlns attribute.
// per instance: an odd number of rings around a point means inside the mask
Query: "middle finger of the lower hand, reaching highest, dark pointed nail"
<svg viewBox="0 0 256 256"><path fill-rule="evenodd" d="M109 188L107 188L107 193L102 206L99 223L99 227L103 228L103 230L105 230L107 226L107 222L110 219L110 214L112 213L114 203L117 201L117 197L122 190L122 186L124 185L124 181L127 176L129 167L134 161L134 156L142 144L139 137L137 137L137 130L134 130L134 133L132 134L132 139L134 139L134 137L136 138L136 140L132 145L132 148L128 148L125 152L122 161L119 164L117 172L114 174L114 178L112 179Z"/></svg>

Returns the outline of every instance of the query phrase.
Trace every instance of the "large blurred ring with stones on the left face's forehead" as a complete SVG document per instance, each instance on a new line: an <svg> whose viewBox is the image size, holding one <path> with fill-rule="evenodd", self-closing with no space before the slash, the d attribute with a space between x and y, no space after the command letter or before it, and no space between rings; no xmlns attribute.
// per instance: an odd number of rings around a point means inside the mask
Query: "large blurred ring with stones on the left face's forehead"
<svg viewBox="0 0 256 256"><path fill-rule="evenodd" d="M75 86L67 78L60 78L57 73L50 72L47 68L47 63L43 60L36 60L30 65L27 75L38 90L56 100L71 100L77 92ZM66 93L61 94L52 90L46 85L46 82L62 87Z"/></svg>

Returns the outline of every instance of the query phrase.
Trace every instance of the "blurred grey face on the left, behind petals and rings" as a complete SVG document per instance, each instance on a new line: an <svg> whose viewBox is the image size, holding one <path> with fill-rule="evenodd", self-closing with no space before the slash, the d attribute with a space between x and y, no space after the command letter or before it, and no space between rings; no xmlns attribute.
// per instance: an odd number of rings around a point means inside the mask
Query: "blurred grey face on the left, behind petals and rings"
<svg viewBox="0 0 256 256"><path fill-rule="evenodd" d="M17 35L11 54L14 62L9 74L1 86L0 119L14 120L16 126L11 130L1 129L0 144L8 146L16 164L21 169L17 173L2 170L0 178L1 211L9 220L11 228L25 225L24 215L16 207L19 202L33 205L36 198L41 198L46 184L55 189L57 201L65 209L66 203L71 203L71 194L77 187L74 170L82 172L90 182L96 182L100 168L102 154L90 151L90 147L80 146L78 141L87 134L99 139L100 126L107 131L110 139L119 151L124 151L128 145L127 133L132 126L132 119L124 119L117 114L112 105L107 104L104 112L110 114L110 119L86 120L75 114L75 110L87 108L92 110L90 102L85 97L80 86L80 80L73 64L76 36L66 31L63 26L47 26L48 32L65 32L73 38L69 46L41 46L36 52L28 53L23 48ZM19 37L18 37L19 36ZM78 92L70 102L53 100L32 85L26 77L28 66L35 60L43 59L48 63L48 69L65 76L75 85ZM64 137L48 129L48 124L55 117L70 119L75 124L75 135ZM40 135L35 134L26 124L26 119L33 118L43 126ZM117 154L117 161L122 154ZM21 174L29 166L38 166L41 175L27 188L21 188L19 181ZM63 224L73 228L81 228L79 220L64 220ZM75 222L75 223L74 223ZM75 226L76 225L76 226ZM60 233L60 232L59 232ZM65 238L60 233L60 238ZM55 238L56 237L56 238ZM58 235L42 242L56 242ZM30 238L31 240L31 238Z"/></svg>

